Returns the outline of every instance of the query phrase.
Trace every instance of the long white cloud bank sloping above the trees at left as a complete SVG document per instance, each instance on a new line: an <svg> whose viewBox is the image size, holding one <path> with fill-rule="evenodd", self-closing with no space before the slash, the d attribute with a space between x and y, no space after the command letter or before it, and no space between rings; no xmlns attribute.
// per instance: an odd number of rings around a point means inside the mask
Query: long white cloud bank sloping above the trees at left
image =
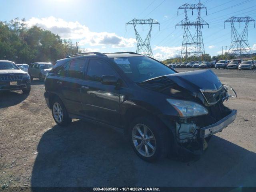
<svg viewBox="0 0 256 192"><path fill-rule="evenodd" d="M136 39L124 38L109 32L92 32L90 29L76 22L67 22L61 18L50 16L48 18L31 18L26 21L31 26L39 26L58 34L61 38L77 39L79 45L104 46L112 45L114 48L134 47Z"/></svg>

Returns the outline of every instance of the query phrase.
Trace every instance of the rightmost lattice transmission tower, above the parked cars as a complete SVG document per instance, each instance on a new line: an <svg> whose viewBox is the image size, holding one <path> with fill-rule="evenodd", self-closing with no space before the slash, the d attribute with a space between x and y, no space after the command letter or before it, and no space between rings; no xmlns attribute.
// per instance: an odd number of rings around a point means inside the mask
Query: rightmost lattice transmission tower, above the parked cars
<svg viewBox="0 0 256 192"><path fill-rule="evenodd" d="M228 52L231 54L231 55L234 55L235 57L238 57L243 55L243 54L246 54L250 57L252 57L252 51L251 51L251 48L249 46L249 43L248 43L248 25L249 25L249 22L254 22L254 28L255 28L255 20L252 19L251 17L230 17L228 20L226 20L224 22L224 28L225 28L225 23L226 22L230 22L231 24L231 44L230 44L230 48L228 50ZM239 22L239 28L240 28L240 24L241 22L245 24L244 26L244 29L242 30L241 33L239 33L237 30L236 30L236 27L235 27L235 22Z"/></svg>

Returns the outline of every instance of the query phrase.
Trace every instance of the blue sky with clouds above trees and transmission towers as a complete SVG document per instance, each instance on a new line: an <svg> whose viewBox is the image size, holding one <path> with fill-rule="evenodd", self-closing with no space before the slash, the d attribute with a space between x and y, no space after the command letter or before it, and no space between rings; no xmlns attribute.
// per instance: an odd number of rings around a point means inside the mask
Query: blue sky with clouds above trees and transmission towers
<svg viewBox="0 0 256 192"><path fill-rule="evenodd" d="M84 52L136 52L136 38L132 19L152 18L160 23L153 25L151 48L154 57L165 60L180 54L184 29L175 25L184 19L184 11L178 7L184 3L197 4L199 0L0 0L0 20L25 18L27 25L37 25L78 42ZM209 24L202 28L205 53L218 55L229 48L231 26L224 20L231 16L250 16L256 19L256 0L202 0L207 7L201 17ZM190 21L196 14L188 10ZM137 26L136 26L137 27ZM244 24L236 24L241 31ZM145 38L149 26L137 27ZM191 28L193 31L194 29ZM256 29L249 24L248 42L256 52Z"/></svg>

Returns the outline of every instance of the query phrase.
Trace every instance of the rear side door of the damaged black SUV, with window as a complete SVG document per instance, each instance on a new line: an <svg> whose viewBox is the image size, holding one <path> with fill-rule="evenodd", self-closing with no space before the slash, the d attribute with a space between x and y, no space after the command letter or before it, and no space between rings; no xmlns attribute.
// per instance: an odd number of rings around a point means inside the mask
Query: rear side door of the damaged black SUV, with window
<svg viewBox="0 0 256 192"><path fill-rule="evenodd" d="M57 71L55 86L60 93L68 113L82 115L81 86L84 78L86 59L68 62Z"/></svg>

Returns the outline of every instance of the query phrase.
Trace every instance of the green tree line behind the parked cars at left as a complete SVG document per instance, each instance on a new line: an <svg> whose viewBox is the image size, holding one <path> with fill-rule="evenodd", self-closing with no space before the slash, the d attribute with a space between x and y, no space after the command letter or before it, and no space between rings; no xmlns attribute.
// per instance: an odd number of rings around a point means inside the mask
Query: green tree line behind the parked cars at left
<svg viewBox="0 0 256 192"><path fill-rule="evenodd" d="M76 53L71 40L38 26L28 28L25 19L15 18L10 22L0 21L0 60L11 60L16 64L52 62Z"/></svg>

